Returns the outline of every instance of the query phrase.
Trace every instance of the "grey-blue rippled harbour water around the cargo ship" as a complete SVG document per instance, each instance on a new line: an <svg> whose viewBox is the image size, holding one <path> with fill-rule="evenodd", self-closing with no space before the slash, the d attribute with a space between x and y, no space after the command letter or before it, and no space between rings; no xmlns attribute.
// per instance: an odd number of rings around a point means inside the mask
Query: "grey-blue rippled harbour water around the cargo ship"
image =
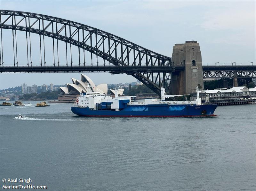
<svg viewBox="0 0 256 191"><path fill-rule="evenodd" d="M68 103L24 103L0 107L1 186L30 178L49 191L256 190L256 105L205 118L86 118Z"/></svg>

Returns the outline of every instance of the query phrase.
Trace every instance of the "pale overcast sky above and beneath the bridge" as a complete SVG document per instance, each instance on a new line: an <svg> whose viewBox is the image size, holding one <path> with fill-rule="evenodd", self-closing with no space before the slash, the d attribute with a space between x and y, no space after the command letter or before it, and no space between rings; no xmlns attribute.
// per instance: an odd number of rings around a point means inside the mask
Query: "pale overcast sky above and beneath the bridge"
<svg viewBox="0 0 256 191"><path fill-rule="evenodd" d="M0 9L28 11L73 20L170 57L175 43L197 40L203 64L256 64L256 1L1 0ZM7 32L10 33L9 30ZM12 56L5 56L4 62L13 63L12 59ZM125 74L86 75L95 84L136 81ZM79 79L80 74L0 74L0 89L23 83L71 83L71 77Z"/></svg>

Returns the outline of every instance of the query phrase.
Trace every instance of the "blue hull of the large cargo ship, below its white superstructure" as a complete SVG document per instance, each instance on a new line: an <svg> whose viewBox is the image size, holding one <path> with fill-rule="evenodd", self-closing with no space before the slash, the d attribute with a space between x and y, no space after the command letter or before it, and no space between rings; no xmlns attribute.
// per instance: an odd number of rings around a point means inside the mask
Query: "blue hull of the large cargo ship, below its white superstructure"
<svg viewBox="0 0 256 191"><path fill-rule="evenodd" d="M90 110L88 107L71 107L71 111L86 117L204 117L215 116L218 105L139 105L127 106L120 111Z"/></svg>

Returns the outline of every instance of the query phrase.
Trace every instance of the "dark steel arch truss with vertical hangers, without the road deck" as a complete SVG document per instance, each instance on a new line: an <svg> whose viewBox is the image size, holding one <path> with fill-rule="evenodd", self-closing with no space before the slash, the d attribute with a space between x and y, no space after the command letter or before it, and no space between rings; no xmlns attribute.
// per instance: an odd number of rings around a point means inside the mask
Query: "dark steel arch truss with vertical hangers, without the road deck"
<svg viewBox="0 0 256 191"><path fill-rule="evenodd" d="M129 67L140 68L141 66L145 66L146 68L167 67L168 70L165 71L144 70L141 72L136 70L115 70L110 73L117 74L125 72L126 74L132 75L159 95L161 94L161 86L164 86L171 92L171 57L143 48L114 34L62 18L22 11L1 10L0 19L1 43L3 41L2 29L12 30L14 67L20 66L20 60L17 55L17 31L26 33L27 60L25 62L27 62L28 67L33 67L34 65L32 65L31 59L33 52L31 52L31 33L36 33L38 34L38 40L40 42L39 66L47 66L45 61L45 37L50 37L52 38L53 48L53 61L51 65L54 67L61 66L59 60L59 42L63 41L65 42L66 48L66 63L62 63L62 66L74 67L72 62L72 58L74 58L74 56L72 57L72 48L76 46L78 48L79 57L79 63L78 65L76 64L76 66L79 67L90 65L99 66L100 58L101 63L103 63L101 64L102 66L106 66L107 62L109 66L121 66L125 69ZM3 67L3 44L1 44L1 49L0 62ZM91 62L89 64L85 59L85 51L90 53ZM24 61L21 61L21 63L24 63Z"/></svg>

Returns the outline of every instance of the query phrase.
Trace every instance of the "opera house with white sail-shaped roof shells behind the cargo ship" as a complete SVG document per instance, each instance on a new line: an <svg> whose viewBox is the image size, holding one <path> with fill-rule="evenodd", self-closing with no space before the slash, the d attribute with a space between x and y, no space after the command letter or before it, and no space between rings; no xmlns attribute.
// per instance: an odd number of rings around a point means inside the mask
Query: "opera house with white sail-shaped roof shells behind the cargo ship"
<svg viewBox="0 0 256 191"><path fill-rule="evenodd" d="M95 85L91 78L81 74L81 79L77 80L75 78L71 78L72 84L66 84L67 87L59 87L60 94L58 97L59 101L72 102L76 100L76 97L80 95L80 93L87 92L100 92L105 95L108 94L108 85L107 84L99 84ZM109 89L111 94L115 94L115 90ZM124 89L118 89L119 95L123 95Z"/></svg>

